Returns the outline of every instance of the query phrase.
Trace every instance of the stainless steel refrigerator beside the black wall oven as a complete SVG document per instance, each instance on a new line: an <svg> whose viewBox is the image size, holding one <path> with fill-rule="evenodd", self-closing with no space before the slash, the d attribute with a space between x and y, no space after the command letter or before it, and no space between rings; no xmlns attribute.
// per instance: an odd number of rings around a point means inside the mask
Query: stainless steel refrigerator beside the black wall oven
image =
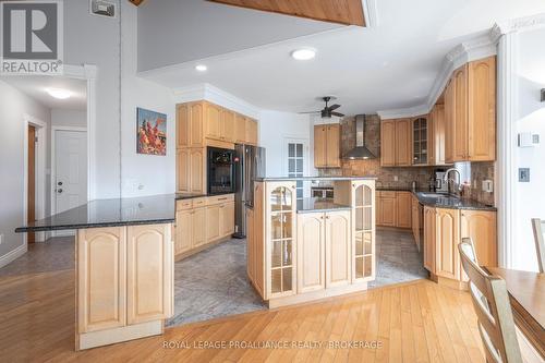
<svg viewBox="0 0 545 363"><path fill-rule="evenodd" d="M265 148L239 145L234 171L234 238L246 237L246 208L254 207L254 179L265 177Z"/></svg>

